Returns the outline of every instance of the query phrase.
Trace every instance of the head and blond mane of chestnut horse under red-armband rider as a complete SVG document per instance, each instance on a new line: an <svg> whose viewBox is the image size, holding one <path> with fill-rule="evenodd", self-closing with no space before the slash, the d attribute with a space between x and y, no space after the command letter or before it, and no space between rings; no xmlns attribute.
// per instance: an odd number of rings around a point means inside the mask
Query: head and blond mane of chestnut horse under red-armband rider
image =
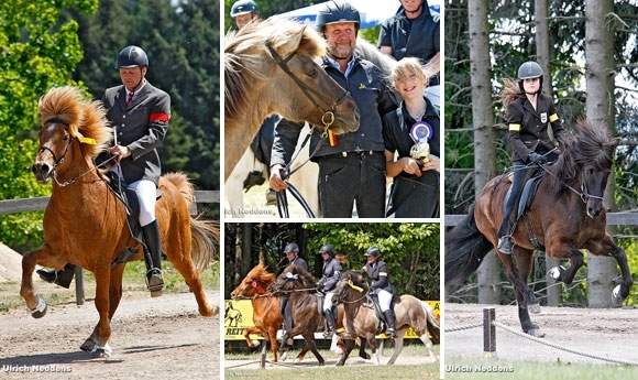
<svg viewBox="0 0 638 380"><path fill-rule="evenodd" d="M82 163L102 151L109 139L106 111L99 101L84 97L77 87L51 89L37 105L42 116L40 149L32 166L38 183L72 166L74 154ZM77 153L76 153L77 152Z"/></svg>

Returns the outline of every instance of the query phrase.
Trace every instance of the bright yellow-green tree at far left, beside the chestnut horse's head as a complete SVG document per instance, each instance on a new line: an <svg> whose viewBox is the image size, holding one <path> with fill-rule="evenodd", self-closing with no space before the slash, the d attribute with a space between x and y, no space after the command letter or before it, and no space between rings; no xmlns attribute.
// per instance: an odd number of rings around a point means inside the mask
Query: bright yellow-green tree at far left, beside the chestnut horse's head
<svg viewBox="0 0 638 380"><path fill-rule="evenodd" d="M70 8L89 13L98 0L6 0L0 3L0 199L48 195L30 167L37 151L37 99L51 87L81 85L69 73L81 59ZM42 213L2 215L0 241L15 249L42 241Z"/></svg>

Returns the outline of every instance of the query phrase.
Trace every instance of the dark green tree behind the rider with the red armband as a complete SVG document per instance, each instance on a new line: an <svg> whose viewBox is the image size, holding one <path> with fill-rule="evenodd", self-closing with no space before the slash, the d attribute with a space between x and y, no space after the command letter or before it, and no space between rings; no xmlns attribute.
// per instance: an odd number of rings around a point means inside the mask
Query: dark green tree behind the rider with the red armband
<svg viewBox="0 0 638 380"><path fill-rule="evenodd" d="M200 189L219 189L219 0L102 0L95 14L76 14L86 54L74 77L100 98L120 84L118 52L142 47L148 80L172 97L163 170L185 172Z"/></svg>

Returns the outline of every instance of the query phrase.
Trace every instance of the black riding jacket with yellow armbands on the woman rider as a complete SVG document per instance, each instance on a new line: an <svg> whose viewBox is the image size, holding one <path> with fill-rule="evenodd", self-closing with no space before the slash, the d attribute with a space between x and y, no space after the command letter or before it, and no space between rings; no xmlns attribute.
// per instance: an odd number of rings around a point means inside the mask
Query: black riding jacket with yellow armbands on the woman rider
<svg viewBox="0 0 638 380"><path fill-rule="evenodd" d="M566 138L552 98L540 93L536 109L527 96L520 96L512 101L507 106L507 124L509 144L514 150L512 161L529 163L531 152L544 154L553 150L554 143L548 132L550 124L559 146L563 145Z"/></svg>

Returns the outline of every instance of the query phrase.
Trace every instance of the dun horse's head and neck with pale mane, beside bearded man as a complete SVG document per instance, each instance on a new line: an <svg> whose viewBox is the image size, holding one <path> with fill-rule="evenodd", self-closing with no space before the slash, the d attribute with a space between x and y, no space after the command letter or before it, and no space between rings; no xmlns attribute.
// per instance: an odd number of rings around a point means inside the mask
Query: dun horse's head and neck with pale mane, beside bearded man
<svg viewBox="0 0 638 380"><path fill-rule="evenodd" d="M273 112L336 134L359 129L354 99L317 62L326 42L311 28L253 21L226 43L224 181Z"/></svg>

